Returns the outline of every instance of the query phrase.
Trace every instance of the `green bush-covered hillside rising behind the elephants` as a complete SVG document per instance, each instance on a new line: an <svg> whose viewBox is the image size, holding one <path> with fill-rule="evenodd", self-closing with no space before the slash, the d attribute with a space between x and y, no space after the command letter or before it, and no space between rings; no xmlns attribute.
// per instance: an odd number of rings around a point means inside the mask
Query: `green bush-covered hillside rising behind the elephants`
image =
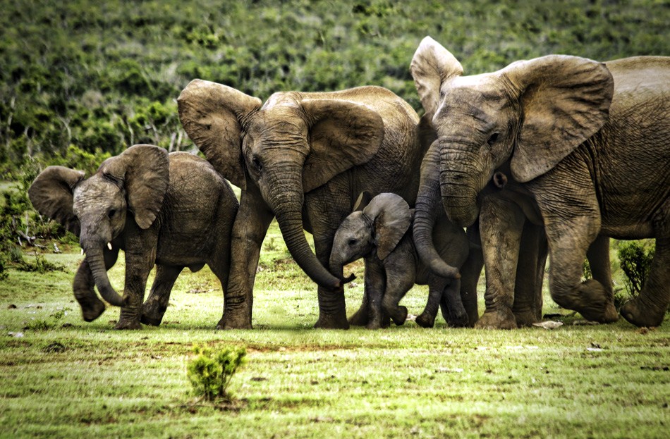
<svg viewBox="0 0 670 439"><path fill-rule="evenodd" d="M189 149L176 97L193 78L261 99L382 85L420 110L408 64L425 35L470 74L552 53L669 55L669 20L655 0L5 1L0 178L27 159L92 172L131 144Z"/></svg>

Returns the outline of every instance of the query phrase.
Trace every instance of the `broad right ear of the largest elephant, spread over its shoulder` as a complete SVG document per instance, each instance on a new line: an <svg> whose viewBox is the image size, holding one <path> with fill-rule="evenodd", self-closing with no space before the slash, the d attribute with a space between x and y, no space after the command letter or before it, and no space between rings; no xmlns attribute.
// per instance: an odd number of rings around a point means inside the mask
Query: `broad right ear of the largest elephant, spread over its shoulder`
<svg viewBox="0 0 670 439"><path fill-rule="evenodd" d="M521 183L553 168L602 128L614 80L604 63L549 55L517 61L500 71L518 91L522 119L511 159Z"/></svg>

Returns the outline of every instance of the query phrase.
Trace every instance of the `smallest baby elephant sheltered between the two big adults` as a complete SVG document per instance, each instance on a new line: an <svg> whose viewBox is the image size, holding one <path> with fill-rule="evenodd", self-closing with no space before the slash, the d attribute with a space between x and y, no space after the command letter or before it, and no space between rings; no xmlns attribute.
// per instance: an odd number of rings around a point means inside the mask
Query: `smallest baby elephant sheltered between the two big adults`
<svg viewBox="0 0 670 439"><path fill-rule="evenodd" d="M468 326L458 271L454 269L454 278L443 278L422 264L414 247L412 221L413 211L405 200L384 193L372 198L362 211L347 216L336 231L330 256L334 273L341 276L343 266L365 257L365 295L352 324L379 328L390 316L396 325L402 325L407 308L399 307L398 302L416 283L429 285L426 308L416 319L420 326L434 325L440 304L450 326ZM437 222L433 239L444 261L460 268L469 251L465 231L444 218Z"/></svg>

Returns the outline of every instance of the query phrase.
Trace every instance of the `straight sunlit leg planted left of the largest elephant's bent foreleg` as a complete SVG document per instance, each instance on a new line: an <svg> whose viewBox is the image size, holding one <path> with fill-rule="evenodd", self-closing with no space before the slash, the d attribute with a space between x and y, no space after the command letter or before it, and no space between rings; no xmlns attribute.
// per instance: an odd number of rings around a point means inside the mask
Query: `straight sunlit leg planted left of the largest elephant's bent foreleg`
<svg viewBox="0 0 670 439"><path fill-rule="evenodd" d="M516 328L512 312L516 267L525 216L516 204L486 197L480 213L480 235L486 273L486 309L477 328Z"/></svg>

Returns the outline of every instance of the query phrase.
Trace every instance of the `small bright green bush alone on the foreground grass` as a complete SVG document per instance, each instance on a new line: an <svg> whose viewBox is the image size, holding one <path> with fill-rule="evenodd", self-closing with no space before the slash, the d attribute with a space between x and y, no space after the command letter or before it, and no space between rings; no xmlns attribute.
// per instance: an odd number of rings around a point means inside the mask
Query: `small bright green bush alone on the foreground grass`
<svg viewBox="0 0 670 439"><path fill-rule="evenodd" d="M227 389L233 375L245 362L245 348L226 348L214 352L209 347L195 346L193 352L197 357L188 362L186 375L195 395L207 401L229 400Z"/></svg>

